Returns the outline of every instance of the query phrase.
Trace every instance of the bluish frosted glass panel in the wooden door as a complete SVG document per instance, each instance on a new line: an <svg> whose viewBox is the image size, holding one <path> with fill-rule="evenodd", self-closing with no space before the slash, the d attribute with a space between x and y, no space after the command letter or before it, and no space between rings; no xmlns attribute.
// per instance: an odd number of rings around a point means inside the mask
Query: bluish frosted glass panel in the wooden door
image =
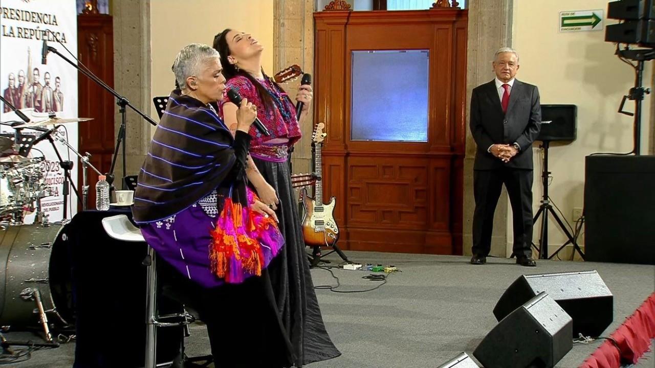
<svg viewBox="0 0 655 368"><path fill-rule="evenodd" d="M353 141L428 141L428 50L352 52Z"/></svg>

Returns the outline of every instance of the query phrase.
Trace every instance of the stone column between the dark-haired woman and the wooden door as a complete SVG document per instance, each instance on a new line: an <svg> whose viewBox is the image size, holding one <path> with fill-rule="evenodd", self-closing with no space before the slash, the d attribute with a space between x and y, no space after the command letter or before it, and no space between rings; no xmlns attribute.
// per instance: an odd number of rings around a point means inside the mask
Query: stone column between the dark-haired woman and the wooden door
<svg viewBox="0 0 655 368"><path fill-rule="evenodd" d="M300 65L304 73L314 74L314 4L315 0L276 0L273 14L273 67L271 74L293 65ZM291 100L295 101L300 78L282 84ZM310 172L312 150L310 139L314 111L301 126L303 139L296 143L292 155L293 172Z"/></svg>

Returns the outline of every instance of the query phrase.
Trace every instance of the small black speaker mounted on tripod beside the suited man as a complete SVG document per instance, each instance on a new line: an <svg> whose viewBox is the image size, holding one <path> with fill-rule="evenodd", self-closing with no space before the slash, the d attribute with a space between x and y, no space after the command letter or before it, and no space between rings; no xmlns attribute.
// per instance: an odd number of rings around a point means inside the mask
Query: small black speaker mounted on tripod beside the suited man
<svg viewBox="0 0 655 368"><path fill-rule="evenodd" d="M538 141L574 141L577 133L576 105L541 105Z"/></svg>

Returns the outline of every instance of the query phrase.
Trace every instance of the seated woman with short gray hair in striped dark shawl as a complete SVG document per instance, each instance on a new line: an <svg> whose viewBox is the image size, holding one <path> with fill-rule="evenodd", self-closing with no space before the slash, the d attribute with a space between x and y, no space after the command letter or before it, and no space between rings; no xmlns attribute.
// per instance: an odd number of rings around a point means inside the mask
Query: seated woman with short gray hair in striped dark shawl
<svg viewBox="0 0 655 368"><path fill-rule="evenodd" d="M164 261L160 282L206 323L217 367L282 367L260 364L269 350L284 351L261 286L284 238L275 212L246 185L257 108L243 99L233 137L210 105L225 90L210 46L185 46L172 69L180 88L170 93L141 167L134 221Z"/></svg>

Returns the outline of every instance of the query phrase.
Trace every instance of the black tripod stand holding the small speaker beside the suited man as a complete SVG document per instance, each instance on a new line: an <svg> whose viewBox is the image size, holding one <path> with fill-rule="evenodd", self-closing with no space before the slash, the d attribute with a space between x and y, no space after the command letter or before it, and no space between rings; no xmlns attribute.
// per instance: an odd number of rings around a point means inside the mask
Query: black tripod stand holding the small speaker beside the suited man
<svg viewBox="0 0 655 368"><path fill-rule="evenodd" d="M582 253L582 249L580 249L578 243L573 238L571 232L569 231L569 229L567 229L563 221L559 218L557 212L553 210L552 204L550 204L550 198L548 197L548 179L550 178L550 171L548 171L548 146L550 145L550 141L544 139L544 141L542 142L543 143L541 145L541 148L544 149L544 164L543 164L541 177L542 177L544 195L542 196L541 204L539 205L539 210L536 212L536 215L534 215L534 219L533 219L533 223L536 223L536 221L539 219L539 216L543 215L541 219L539 248L537 248L537 250L539 251L539 258L552 259L565 246L567 246L568 244L573 244L573 248L576 251L578 251L578 253L580 253L580 257L584 259L584 253ZM567 242L565 242L561 247L559 247L555 251L555 253L553 253L550 256L548 255L548 215L549 214L553 216L553 219L555 219L555 222L557 222L557 225L559 225L559 229L561 229L567 235L567 238L569 238Z"/></svg>

